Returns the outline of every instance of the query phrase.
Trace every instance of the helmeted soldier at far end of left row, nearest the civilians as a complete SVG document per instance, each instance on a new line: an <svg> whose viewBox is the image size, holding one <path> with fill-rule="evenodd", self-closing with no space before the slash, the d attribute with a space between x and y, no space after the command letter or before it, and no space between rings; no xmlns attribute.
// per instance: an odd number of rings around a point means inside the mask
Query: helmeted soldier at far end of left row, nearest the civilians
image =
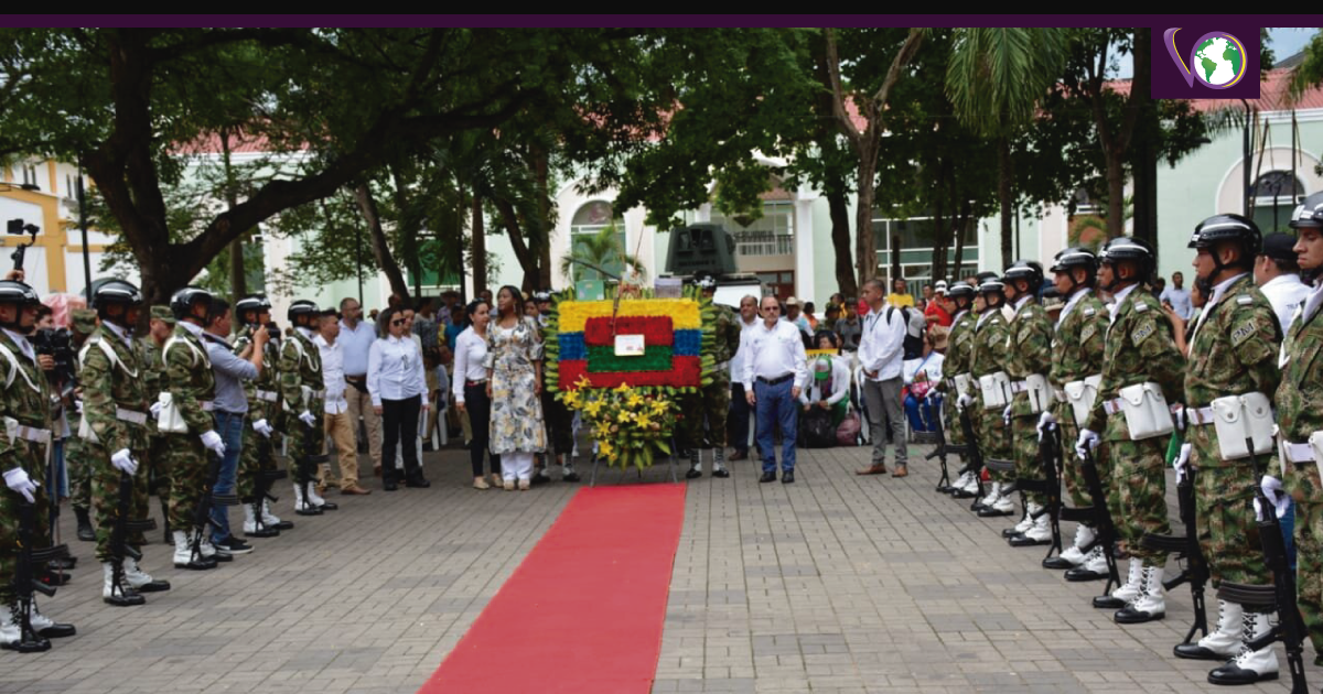
<svg viewBox="0 0 1323 694"><path fill-rule="evenodd" d="M335 510L315 489L315 467L307 461L310 451L319 453L325 438L323 414L325 385L321 381L321 353L312 342L321 312L306 299L290 304L288 317L294 333L280 345L280 395L284 399L284 435L288 436L290 472L294 477L294 512L320 516ZM312 414L316 412L316 414Z"/></svg>

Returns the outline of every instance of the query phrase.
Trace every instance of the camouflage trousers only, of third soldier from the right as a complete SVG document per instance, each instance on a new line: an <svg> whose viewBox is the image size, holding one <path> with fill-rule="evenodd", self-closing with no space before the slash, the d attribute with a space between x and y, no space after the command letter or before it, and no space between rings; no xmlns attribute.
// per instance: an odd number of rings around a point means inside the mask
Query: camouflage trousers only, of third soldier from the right
<svg viewBox="0 0 1323 694"><path fill-rule="evenodd" d="M1170 535L1167 522L1167 438L1142 442L1102 442L1094 457L1111 467L1107 509L1126 550L1152 566L1167 563L1167 553L1144 549L1147 533ZM1098 473L1102 475L1099 465Z"/></svg>

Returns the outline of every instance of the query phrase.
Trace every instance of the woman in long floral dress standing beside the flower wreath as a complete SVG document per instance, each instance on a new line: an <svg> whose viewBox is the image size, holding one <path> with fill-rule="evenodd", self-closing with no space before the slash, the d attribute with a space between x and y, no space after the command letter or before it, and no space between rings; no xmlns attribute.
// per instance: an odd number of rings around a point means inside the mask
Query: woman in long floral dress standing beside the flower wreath
<svg viewBox="0 0 1323 694"><path fill-rule="evenodd" d="M523 316L524 297L515 287L496 293L496 317L487 329L487 394L492 402L492 455L501 456L505 489L528 489L533 453L546 448L542 426L542 333Z"/></svg>

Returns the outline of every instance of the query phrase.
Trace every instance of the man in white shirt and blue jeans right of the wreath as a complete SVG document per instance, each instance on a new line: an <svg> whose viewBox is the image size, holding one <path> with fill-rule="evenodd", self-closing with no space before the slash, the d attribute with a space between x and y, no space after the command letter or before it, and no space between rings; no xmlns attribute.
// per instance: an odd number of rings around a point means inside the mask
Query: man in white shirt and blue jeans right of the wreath
<svg viewBox="0 0 1323 694"><path fill-rule="evenodd" d="M762 452L759 482L777 481L777 451L773 432L781 426L782 484L795 481L795 399L808 381L807 356L799 328L781 320L775 296L762 299L762 323L741 336L745 352L745 399L758 412L758 448Z"/></svg>

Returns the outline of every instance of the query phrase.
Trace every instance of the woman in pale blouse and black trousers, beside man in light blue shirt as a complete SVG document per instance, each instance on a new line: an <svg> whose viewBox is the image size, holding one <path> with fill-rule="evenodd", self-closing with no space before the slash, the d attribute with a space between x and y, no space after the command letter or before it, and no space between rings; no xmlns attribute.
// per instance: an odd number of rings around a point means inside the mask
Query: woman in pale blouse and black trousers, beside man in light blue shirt
<svg viewBox="0 0 1323 694"><path fill-rule="evenodd" d="M388 308L381 317L386 334L368 350L368 393L372 408L382 415L385 434L381 459L394 460L396 445L404 443L405 486L431 486L418 464L418 414L427 407L423 394L427 379L423 374L422 352L407 333L406 320L398 309ZM396 467L381 468L381 485L386 492L397 489Z"/></svg>

